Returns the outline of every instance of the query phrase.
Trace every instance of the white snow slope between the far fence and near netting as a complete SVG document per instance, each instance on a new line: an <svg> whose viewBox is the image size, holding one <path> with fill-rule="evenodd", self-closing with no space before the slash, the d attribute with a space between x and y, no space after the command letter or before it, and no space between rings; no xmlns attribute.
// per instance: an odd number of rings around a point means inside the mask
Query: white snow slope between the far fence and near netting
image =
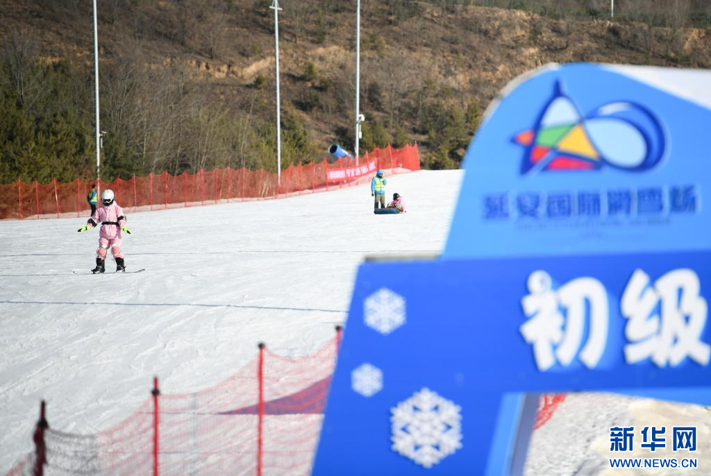
<svg viewBox="0 0 711 476"><path fill-rule="evenodd" d="M408 212L373 215L370 185L280 200L127 212L129 271L92 275L86 217L0 222L0 473L50 426L94 433L164 393L234 374L266 342L308 355L334 335L364 256L438 253L463 171L387 177ZM119 203L120 205L120 203ZM77 275L73 271L86 271Z"/></svg>

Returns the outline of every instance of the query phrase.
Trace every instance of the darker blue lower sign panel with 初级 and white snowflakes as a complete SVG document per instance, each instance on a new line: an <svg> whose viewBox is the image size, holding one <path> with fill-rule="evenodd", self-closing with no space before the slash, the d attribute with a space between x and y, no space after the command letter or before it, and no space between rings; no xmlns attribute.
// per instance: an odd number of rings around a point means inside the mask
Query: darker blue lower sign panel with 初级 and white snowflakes
<svg viewBox="0 0 711 476"><path fill-rule="evenodd" d="M711 382L710 298L709 252L364 264L315 474L483 475L506 392Z"/></svg>

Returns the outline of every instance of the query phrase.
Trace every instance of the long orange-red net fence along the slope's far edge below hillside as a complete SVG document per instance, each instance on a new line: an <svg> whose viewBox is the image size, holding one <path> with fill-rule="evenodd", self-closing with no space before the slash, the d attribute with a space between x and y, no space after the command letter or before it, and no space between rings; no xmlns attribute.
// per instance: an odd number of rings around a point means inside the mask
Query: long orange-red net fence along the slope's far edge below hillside
<svg viewBox="0 0 711 476"><path fill-rule="evenodd" d="M418 171L417 145L400 149L387 146L376 148L355 159L324 160L289 166L277 173L247 168L217 168L213 171L169 175L151 173L145 177L117 178L112 183L101 181L100 188L114 190L116 201L127 210L162 210L168 207L188 207L216 203L223 200L255 200L276 198L279 195L329 190L333 187L354 185L374 175L377 169ZM8 218L53 218L66 214L86 215L90 210L86 195L91 182L77 179L71 183L52 180L48 184L0 184L0 220Z"/></svg>

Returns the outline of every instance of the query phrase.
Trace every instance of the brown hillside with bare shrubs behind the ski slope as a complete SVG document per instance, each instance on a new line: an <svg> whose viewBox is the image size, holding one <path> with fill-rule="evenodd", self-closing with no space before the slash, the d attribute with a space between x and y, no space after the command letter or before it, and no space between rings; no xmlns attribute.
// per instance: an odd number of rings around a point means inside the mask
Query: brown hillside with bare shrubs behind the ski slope
<svg viewBox="0 0 711 476"><path fill-rule="evenodd" d="M362 3L360 104L368 121L361 150L417 140L432 168L459 166L480 111L509 80L539 65L711 65L710 30L684 28L683 21L652 26L446 1ZM46 64L68 63L79 77L73 89L89 91L77 93L75 103L77 120L90 131L90 2L0 5L6 76L14 77L7 58L18 50ZM319 158L336 141L352 149L355 2L282 1L282 7L285 165ZM112 128L107 173L178 173L234 161L269 168L262 162L274 145L274 21L267 1L100 0L99 11L102 121ZM75 155L92 155L90 139ZM125 157L130 163L121 163Z"/></svg>

